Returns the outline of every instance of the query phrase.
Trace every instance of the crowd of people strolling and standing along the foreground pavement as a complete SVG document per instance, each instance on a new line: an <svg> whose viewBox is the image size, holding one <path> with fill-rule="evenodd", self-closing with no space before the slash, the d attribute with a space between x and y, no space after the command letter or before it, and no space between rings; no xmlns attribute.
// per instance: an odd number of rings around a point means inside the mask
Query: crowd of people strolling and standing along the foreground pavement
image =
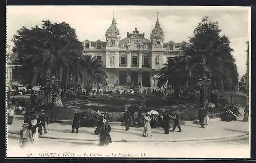
<svg viewBox="0 0 256 163"><path fill-rule="evenodd" d="M151 137L152 128L163 128L163 134L169 134L178 128L177 132L181 130L181 115L178 110L175 112L165 111L161 114L151 114L145 112L142 104L131 106L124 106L123 122L125 131L129 131L129 127L143 127L143 136ZM138 112L138 119L135 119L135 112ZM201 128L209 125L209 116L205 105L201 105L198 110L198 120ZM238 108L232 107L221 113L221 120L232 121L237 120L240 115ZM12 124L14 110L12 107L8 109L8 124ZM243 121L248 122L249 118L249 105L245 106ZM20 147L24 148L26 144L38 141L38 135L47 133L48 116L44 110L41 110L40 115L36 115L35 111L26 111L24 114L24 124L20 130ZM96 127L94 134L99 137L99 145L106 146L112 142L110 137L111 126L109 125L109 114L106 111L88 112L83 111L79 113L74 110L74 118L72 122L71 133L78 133L80 127Z"/></svg>

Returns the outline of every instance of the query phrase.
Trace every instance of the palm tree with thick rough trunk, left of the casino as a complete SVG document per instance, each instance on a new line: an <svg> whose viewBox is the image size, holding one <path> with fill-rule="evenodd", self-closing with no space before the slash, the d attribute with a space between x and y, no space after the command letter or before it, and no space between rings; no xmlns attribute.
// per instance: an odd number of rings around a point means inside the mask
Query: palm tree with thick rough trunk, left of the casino
<svg viewBox="0 0 256 163"><path fill-rule="evenodd" d="M60 50L55 50L54 45L50 42L45 42L44 46L45 52L42 55L35 55L30 59L30 63L33 65L34 69L32 82L35 83L39 78L51 78L54 76L56 81L52 81L53 106L62 107L63 104L61 101L59 84L56 84L55 82L59 81L61 84L67 84L70 78L73 78L75 82L77 82L84 77L81 75L81 68L76 63L77 58L80 55L72 48L72 44L66 44ZM49 92L49 89L47 92Z"/></svg>

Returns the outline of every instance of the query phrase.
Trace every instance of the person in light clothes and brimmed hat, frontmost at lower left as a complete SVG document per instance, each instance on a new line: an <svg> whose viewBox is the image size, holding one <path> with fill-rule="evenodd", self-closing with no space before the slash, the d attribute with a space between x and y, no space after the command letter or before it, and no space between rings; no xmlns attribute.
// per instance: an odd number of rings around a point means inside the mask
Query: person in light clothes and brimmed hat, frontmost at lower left
<svg viewBox="0 0 256 163"><path fill-rule="evenodd" d="M22 125L22 129L19 132L19 135L20 135L19 146L22 148L24 148L25 146L27 146L30 143L33 143L32 131L28 127L29 127L29 124L24 123Z"/></svg>

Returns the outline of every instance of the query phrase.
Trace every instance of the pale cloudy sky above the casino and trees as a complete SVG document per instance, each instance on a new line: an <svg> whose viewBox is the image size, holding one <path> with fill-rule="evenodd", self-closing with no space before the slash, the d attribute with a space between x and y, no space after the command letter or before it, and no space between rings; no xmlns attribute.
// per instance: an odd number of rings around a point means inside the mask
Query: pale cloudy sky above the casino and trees
<svg viewBox="0 0 256 163"><path fill-rule="evenodd" d="M7 44L13 46L13 35L25 26L41 26L42 20L66 22L76 29L80 41L105 41L105 32L114 17L121 39L137 27L145 38L150 38L159 13L164 30L164 42L188 41L204 16L218 21L221 35L230 39L234 49L239 76L246 72L247 45L251 38L250 7L195 7L195 6L7 6Z"/></svg>

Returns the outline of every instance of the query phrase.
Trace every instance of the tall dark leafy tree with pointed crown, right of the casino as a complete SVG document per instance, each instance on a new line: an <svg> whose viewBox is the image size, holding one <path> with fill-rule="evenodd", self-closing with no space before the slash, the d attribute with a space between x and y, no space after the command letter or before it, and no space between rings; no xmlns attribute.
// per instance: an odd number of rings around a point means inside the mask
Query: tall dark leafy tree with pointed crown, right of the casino
<svg viewBox="0 0 256 163"><path fill-rule="evenodd" d="M182 47L188 62L189 80L187 86L196 87L199 77L206 75L212 80L212 87L220 90L234 89L238 83L237 66L232 56L233 49L225 35L220 36L218 22L204 17L190 37L188 46Z"/></svg>

